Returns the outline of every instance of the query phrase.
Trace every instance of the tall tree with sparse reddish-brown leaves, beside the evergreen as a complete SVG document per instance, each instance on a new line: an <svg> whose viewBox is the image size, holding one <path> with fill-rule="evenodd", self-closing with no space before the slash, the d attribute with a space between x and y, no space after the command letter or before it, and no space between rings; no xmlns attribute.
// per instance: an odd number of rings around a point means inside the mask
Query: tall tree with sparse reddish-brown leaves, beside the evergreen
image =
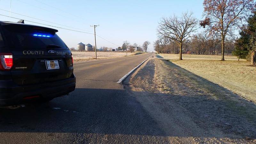
<svg viewBox="0 0 256 144"><path fill-rule="evenodd" d="M224 59L226 36L232 36L234 28L242 25L245 17L255 8L254 0L204 0L205 19L200 25L206 25L213 33L221 36L221 60Z"/></svg>

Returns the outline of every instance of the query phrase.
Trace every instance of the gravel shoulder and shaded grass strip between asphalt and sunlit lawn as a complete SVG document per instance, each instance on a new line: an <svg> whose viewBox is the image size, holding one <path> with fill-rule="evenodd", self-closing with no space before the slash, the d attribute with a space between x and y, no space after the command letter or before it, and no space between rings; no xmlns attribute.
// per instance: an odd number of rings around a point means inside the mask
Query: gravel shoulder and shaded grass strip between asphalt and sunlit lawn
<svg viewBox="0 0 256 144"><path fill-rule="evenodd" d="M125 85L171 143L256 143L256 105L166 60L151 58Z"/></svg>

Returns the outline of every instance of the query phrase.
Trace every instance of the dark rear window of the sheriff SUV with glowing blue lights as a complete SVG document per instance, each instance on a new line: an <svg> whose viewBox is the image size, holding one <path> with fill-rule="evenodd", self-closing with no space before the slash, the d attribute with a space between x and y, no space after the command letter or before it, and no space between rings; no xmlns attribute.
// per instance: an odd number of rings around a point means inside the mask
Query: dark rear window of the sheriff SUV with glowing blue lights
<svg viewBox="0 0 256 144"><path fill-rule="evenodd" d="M12 48L46 48L49 44L59 45L61 48L68 49L60 37L51 31L36 30L35 28L27 28L16 25L3 26L4 35L7 43Z"/></svg>

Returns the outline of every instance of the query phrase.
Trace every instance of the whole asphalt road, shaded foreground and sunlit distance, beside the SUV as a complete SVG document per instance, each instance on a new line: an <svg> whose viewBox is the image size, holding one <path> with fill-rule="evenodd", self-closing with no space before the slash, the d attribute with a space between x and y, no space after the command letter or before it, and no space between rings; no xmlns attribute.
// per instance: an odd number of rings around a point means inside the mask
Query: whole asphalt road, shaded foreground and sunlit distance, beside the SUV
<svg viewBox="0 0 256 144"><path fill-rule="evenodd" d="M76 63L76 90L69 96L0 109L0 143L164 142L156 121L116 83L150 55Z"/></svg>

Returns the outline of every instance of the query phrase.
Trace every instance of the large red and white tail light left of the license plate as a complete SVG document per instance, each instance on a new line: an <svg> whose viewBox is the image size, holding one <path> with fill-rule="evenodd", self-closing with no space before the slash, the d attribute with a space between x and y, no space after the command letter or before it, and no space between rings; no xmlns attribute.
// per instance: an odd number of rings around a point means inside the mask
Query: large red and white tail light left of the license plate
<svg viewBox="0 0 256 144"><path fill-rule="evenodd" d="M12 66L12 53L0 53L0 70L11 70Z"/></svg>

